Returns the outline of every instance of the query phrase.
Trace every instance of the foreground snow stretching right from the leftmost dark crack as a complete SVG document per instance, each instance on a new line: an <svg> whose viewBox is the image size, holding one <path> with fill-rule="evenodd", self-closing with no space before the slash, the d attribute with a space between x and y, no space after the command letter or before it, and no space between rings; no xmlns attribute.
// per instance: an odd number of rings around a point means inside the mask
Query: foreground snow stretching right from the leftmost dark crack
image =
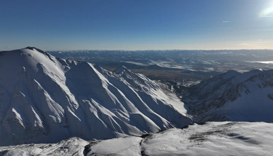
<svg viewBox="0 0 273 156"><path fill-rule="evenodd" d="M86 155L272 155L272 128L272 123L195 124L145 138L91 143Z"/></svg>

